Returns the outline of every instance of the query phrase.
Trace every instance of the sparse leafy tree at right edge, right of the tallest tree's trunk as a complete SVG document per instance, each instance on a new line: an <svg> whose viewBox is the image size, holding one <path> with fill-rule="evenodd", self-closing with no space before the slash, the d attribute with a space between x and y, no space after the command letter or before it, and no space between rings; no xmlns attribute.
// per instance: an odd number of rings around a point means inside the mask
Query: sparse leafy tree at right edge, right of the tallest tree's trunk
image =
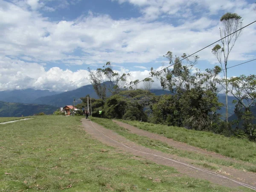
<svg viewBox="0 0 256 192"><path fill-rule="evenodd" d="M256 105L256 75L232 77L228 84L231 86L230 93L236 98L234 102L245 109L241 119L244 120L244 128L249 134L249 139L253 140L255 126L252 123L254 117L250 109Z"/></svg>

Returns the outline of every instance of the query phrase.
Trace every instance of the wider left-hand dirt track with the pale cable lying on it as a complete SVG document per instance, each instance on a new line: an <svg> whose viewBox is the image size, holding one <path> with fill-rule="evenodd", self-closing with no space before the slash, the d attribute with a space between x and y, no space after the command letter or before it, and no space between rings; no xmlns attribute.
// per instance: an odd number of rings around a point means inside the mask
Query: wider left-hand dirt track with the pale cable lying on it
<svg viewBox="0 0 256 192"><path fill-rule="evenodd" d="M201 172L197 169L193 169L189 166L180 164L180 163L188 164L188 162L186 161L186 158L177 157L172 154L165 154L161 151L157 151L154 149L150 149L150 148L146 148L146 147L137 145L136 143L128 141L125 137L122 137L119 134L116 134L115 132L113 132L109 129L106 129L94 122L91 122L90 120L82 119L82 125L84 126L84 129L88 134L90 134L97 140L101 141L102 143L114 146L114 147L118 148L119 150L129 152L131 154L143 157L147 160L151 160L157 164L172 166L175 169L177 169L177 171L179 171L181 174L187 175L189 177L209 180L212 183L223 185L223 186L228 186L228 187L241 186L238 183L235 183L226 178L218 177L216 175L211 175L206 172ZM161 157L159 157L159 156L161 156ZM180 163L174 162L172 160L176 160ZM255 178L256 178L256 175L247 175L247 173L244 172L243 175L239 175L239 180L237 180L237 181L240 181L240 182L249 184L250 186L256 187ZM234 178L232 178L232 179L234 179Z"/></svg>

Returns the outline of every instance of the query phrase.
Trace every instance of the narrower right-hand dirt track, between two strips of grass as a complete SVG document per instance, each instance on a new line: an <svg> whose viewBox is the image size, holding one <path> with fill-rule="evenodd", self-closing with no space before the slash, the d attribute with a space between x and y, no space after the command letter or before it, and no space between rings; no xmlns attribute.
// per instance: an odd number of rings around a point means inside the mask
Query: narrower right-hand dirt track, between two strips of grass
<svg viewBox="0 0 256 192"><path fill-rule="evenodd" d="M191 152L198 153L198 154L209 155L211 157L216 157L218 159L232 161L234 163L242 163L242 164L250 165L250 163L246 163L244 161L236 160L236 159L233 159L233 158L230 158L230 157L225 157L221 154L218 154L218 153L215 153L215 152L212 152L212 151L206 151L206 150L203 150L201 148L188 145L186 143L181 143L181 142L169 139L167 137L164 137L160 134L155 134L155 133L151 133L149 131L144 131L142 129L139 129L139 128L136 128L132 125L129 125L127 123L123 123L123 122L116 121L116 120L113 120L113 122L115 122L117 125L119 125L123 128L128 129L129 131L131 131L134 134L149 137L149 138L154 139L154 140L162 141L164 143L167 143L169 146L172 146L172 147L177 148L177 149L181 149L181 150L185 150L185 151L191 151Z"/></svg>

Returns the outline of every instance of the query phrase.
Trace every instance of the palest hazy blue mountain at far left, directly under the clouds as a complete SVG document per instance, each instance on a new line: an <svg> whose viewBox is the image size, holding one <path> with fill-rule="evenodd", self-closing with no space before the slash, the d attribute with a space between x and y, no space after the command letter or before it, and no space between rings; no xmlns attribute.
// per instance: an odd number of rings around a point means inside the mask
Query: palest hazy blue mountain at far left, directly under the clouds
<svg viewBox="0 0 256 192"><path fill-rule="evenodd" d="M0 91L0 101L15 102L15 103L34 103L35 99L42 96L52 96L61 92L49 90L5 90Z"/></svg>

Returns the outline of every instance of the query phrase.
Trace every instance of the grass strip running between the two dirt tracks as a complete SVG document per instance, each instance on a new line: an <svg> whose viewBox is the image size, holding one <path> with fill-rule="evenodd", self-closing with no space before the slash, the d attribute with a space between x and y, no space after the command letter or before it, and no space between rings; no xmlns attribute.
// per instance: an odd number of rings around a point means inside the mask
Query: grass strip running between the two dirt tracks
<svg viewBox="0 0 256 192"><path fill-rule="evenodd" d="M198 164L200 166L203 166L203 167L206 167L209 169L218 170L218 169L221 169L220 166L227 166L227 167L233 167L233 168L241 169L241 170L244 169L249 172L256 172L256 165L253 165L253 164L248 165L245 163L235 163L232 161L211 157L211 156L205 155L205 154L198 154L198 153L194 153L192 151L180 150L177 148L173 148L172 146L169 146L167 143L163 143L159 140L152 140L145 136L141 137L137 134L133 134L130 131L126 130L125 128L114 123L111 119L102 119L102 118L95 118L95 117L91 117L91 119L94 122L98 123L99 125L102 125L105 128L111 129L111 130L115 131L116 133L118 133L119 135L122 135L123 137L125 137L128 140L131 140L137 144L143 145L148 148L154 148L154 149L157 149L158 151L162 151L165 153L175 154L180 157L186 157L191 160L197 160L199 162L197 162L195 164ZM171 150L156 146L155 144L169 148Z"/></svg>

